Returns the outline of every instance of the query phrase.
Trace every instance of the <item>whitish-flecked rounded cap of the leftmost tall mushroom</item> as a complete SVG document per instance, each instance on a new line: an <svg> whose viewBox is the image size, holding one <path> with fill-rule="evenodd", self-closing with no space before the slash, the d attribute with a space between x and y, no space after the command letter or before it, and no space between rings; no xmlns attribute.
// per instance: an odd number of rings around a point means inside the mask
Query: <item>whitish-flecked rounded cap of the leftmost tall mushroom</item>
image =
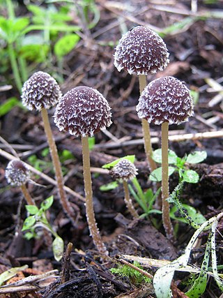
<svg viewBox="0 0 223 298"><path fill-rule="evenodd" d="M22 103L29 110L49 109L61 98L61 89L54 77L43 71L33 73L22 87Z"/></svg>

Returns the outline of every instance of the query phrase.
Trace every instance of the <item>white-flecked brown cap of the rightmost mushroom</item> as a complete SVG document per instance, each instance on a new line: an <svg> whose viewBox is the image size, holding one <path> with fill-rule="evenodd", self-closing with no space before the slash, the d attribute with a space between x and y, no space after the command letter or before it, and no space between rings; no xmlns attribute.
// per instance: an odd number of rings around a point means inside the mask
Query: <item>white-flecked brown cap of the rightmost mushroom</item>
<svg viewBox="0 0 223 298"><path fill-rule="evenodd" d="M180 124L193 114L190 90L175 77L161 77L146 86L139 97L137 112L148 123Z"/></svg>

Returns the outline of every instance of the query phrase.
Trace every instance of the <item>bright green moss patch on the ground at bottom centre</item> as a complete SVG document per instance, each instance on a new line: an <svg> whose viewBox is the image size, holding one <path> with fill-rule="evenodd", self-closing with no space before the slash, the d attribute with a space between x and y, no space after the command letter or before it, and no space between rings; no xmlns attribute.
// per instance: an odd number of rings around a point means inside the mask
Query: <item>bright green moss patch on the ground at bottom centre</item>
<svg viewBox="0 0 223 298"><path fill-rule="evenodd" d="M133 265L138 267L139 269L142 269L141 265L139 262L134 261ZM139 271L136 269L133 269L132 267L128 265L119 265L118 268L112 268L110 271L113 274L117 274L118 276L129 278L131 283L134 285L142 285L144 283L151 283L151 279L148 278L147 276L144 276L144 274L141 274Z"/></svg>

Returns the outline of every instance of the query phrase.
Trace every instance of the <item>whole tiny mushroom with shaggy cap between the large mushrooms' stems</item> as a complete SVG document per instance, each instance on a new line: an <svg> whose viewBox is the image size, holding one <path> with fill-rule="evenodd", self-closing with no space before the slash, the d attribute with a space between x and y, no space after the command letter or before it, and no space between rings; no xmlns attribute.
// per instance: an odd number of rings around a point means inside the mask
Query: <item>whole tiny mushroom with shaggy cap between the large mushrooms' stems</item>
<svg viewBox="0 0 223 298"><path fill-rule="evenodd" d="M128 190L128 180L134 179L137 175L137 168L133 163L128 161L128 159L121 159L118 163L112 167L110 174L114 179L123 183L123 188L125 192L125 204L128 208L128 211L134 218L138 218L139 214L132 204L132 199L130 198L130 192Z"/></svg>

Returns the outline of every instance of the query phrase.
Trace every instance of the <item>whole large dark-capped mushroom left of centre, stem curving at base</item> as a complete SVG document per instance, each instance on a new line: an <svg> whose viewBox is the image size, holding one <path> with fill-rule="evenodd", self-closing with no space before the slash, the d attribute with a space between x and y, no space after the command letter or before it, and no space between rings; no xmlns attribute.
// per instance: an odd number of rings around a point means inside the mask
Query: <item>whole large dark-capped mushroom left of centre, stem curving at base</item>
<svg viewBox="0 0 223 298"><path fill-rule="evenodd" d="M91 182L89 137L112 124L111 108L98 90L80 86L68 91L59 100L54 114L54 122L60 131L82 137L84 188L86 195L86 218L90 234L100 253L107 254L95 221Z"/></svg>

